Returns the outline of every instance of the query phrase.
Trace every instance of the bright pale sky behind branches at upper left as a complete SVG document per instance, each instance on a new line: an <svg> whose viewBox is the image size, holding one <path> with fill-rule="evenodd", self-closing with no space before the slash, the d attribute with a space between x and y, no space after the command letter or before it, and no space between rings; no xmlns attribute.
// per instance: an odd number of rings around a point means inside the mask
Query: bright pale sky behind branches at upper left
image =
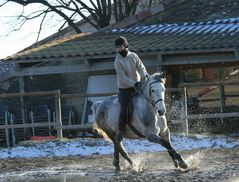
<svg viewBox="0 0 239 182"><path fill-rule="evenodd" d="M3 0L0 0L2 3ZM30 5L24 8L26 13L39 10L40 5ZM13 55L18 51L34 44L37 39L37 31L40 26L40 19L27 21L19 31L13 30L13 25L16 24L16 15L22 12L21 5L10 2L4 7L0 7L0 59ZM15 16L15 17L14 17ZM52 21L52 22L50 22ZM39 40L44 39L53 33L57 32L61 23L57 19L51 19L47 23L53 23L47 29L43 29ZM11 22L9 24L9 22ZM11 32L9 34L9 32Z"/></svg>

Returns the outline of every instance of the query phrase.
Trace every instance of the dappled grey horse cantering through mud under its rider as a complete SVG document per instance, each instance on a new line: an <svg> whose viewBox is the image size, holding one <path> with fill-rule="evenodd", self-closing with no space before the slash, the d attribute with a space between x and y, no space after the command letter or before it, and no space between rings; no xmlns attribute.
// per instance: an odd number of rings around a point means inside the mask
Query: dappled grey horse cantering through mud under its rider
<svg viewBox="0 0 239 182"><path fill-rule="evenodd" d="M176 152L170 141L170 131L165 117L165 75L154 73L150 75L140 86L139 91L132 98L133 111L130 117L130 125L141 134L137 135L129 125L124 131L124 138L136 139L145 137L149 142L157 143L167 149L168 154L176 169L186 170L187 163ZM133 167L133 162L123 147L121 141L115 139L118 131L120 103L116 95L93 104L94 131L114 144L113 165L116 171L120 171L119 153Z"/></svg>

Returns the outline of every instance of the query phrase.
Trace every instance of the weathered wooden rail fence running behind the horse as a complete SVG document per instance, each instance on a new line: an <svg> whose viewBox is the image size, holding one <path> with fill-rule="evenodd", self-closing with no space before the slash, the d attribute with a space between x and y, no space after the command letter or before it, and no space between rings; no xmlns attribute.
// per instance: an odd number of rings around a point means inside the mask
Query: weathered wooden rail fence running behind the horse
<svg viewBox="0 0 239 182"><path fill-rule="evenodd" d="M188 133L188 120L189 119L198 119L198 118L225 118L225 117L238 117L239 112L233 113L214 113L214 114L195 114L189 115L187 108L187 88L189 87L200 87L200 86L226 86L226 85L239 85L239 82L210 82L210 83L197 83L197 84L182 84L180 88L168 88L167 92L175 92L179 91L183 94L183 102L184 102L184 113L181 115L179 120L173 120L175 123L181 123L183 125L185 133ZM52 126L57 131L57 137L62 138L63 132L62 130L78 130L78 131L91 131L92 123L87 124L76 124L76 125L63 125L62 124L62 115L61 115L61 99L68 98L79 98L79 97L102 97L102 96L110 96L116 93L97 93L97 94L61 94L59 90L56 91L42 91L42 92L28 92L28 93L12 93L12 94L1 94L0 99L4 98L13 98L13 97L28 97L28 96L50 96L55 99L55 112L56 112L56 122L52 123L24 123L24 124L8 124L5 122L5 125L0 125L0 129L6 131L6 138L8 138L9 131L8 129L16 129L16 128L31 128L31 127L49 127ZM229 97L232 97L229 96ZM234 97L238 97L238 95L234 95ZM225 100L225 95L220 94L220 107L223 108L223 100ZM9 146L9 141L7 141L7 145Z"/></svg>

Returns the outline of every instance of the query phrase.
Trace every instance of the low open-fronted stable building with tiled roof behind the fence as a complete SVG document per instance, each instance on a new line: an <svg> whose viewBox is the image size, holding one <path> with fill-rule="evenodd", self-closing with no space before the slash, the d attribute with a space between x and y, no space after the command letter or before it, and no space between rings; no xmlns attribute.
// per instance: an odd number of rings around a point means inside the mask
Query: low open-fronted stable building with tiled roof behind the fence
<svg viewBox="0 0 239 182"><path fill-rule="evenodd" d="M25 85L24 92L60 89L62 93L85 93L90 76L115 74L113 43L123 35L150 73L167 72L167 87L177 88L185 82L237 81L238 30L238 18L112 29L66 37L3 61L17 63L11 74L24 78L20 79L25 80L21 83ZM217 84L187 87L188 95L201 101L204 113L231 112L238 108L235 83L227 87ZM172 97L180 100L181 96L174 93ZM84 99L65 103L81 112Z"/></svg>

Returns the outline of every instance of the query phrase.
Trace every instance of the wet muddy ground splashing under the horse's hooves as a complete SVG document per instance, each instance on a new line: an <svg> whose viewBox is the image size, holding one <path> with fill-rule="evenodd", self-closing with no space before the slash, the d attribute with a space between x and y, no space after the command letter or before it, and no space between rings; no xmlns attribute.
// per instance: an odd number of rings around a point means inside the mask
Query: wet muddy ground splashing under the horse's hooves
<svg viewBox="0 0 239 182"><path fill-rule="evenodd" d="M239 147L180 151L191 170L180 173L165 152L131 153L136 167L121 159L115 173L112 155L0 160L0 181L226 181L239 182Z"/></svg>

